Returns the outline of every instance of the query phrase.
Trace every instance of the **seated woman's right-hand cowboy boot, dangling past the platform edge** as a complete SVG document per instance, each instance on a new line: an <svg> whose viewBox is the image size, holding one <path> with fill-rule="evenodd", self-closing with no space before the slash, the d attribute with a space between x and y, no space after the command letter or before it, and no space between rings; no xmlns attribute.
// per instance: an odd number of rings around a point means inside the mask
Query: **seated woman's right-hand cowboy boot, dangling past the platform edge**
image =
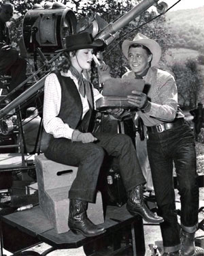
<svg viewBox="0 0 204 256"><path fill-rule="evenodd" d="M129 191L126 208L132 215L139 214L148 223L162 223L164 221L162 217L151 212L143 201L142 185L138 185Z"/></svg>

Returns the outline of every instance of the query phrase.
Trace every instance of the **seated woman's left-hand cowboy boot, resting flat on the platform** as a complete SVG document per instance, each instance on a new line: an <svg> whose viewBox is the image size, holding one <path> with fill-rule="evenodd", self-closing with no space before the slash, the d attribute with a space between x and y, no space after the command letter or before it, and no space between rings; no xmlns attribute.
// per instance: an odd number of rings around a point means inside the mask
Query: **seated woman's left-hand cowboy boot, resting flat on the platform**
<svg viewBox="0 0 204 256"><path fill-rule="evenodd" d="M103 227L97 227L87 217L86 210L88 203L86 201L80 201L70 199L69 201L69 220L68 226L73 233L82 233L84 236L98 236L101 233L105 233Z"/></svg>

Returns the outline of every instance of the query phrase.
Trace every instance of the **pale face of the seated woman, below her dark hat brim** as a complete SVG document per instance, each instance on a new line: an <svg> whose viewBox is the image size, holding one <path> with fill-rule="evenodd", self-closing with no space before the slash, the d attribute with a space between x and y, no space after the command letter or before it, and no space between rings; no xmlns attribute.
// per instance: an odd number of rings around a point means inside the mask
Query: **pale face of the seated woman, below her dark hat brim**
<svg viewBox="0 0 204 256"><path fill-rule="evenodd" d="M78 71L89 70L92 62L93 49L82 49L78 50L73 57L73 66L78 69Z"/></svg>

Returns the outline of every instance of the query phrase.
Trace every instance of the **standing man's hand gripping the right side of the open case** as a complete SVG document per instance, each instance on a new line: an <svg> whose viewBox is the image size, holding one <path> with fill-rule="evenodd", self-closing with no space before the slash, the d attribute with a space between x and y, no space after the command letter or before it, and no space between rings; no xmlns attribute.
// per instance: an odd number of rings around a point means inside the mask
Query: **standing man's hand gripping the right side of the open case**
<svg viewBox="0 0 204 256"><path fill-rule="evenodd" d="M148 96L143 94L140 91L132 91L132 95L127 96L128 102L137 106L138 109L141 109L145 112L149 112L151 108L151 104L148 100Z"/></svg>

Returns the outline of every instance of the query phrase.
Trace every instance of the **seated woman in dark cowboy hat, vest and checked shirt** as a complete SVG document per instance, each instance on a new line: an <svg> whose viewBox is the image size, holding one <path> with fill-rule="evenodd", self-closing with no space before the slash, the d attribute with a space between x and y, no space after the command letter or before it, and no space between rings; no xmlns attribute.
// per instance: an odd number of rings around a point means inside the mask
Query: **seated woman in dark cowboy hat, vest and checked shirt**
<svg viewBox="0 0 204 256"><path fill-rule="evenodd" d="M163 221L150 212L139 193L146 181L135 158L131 138L124 134L91 132L95 102L101 94L85 79L82 71L90 70L93 51L101 46L103 42L94 41L87 32L67 36L66 48L62 51L68 65L63 66L61 72L49 74L44 88L44 128L53 135L45 156L65 165L78 166L77 177L69 190L68 225L72 231L80 231L84 236L105 232L86 215L88 202L95 201L105 153L120 162L122 180L129 193L129 211L152 223Z"/></svg>

